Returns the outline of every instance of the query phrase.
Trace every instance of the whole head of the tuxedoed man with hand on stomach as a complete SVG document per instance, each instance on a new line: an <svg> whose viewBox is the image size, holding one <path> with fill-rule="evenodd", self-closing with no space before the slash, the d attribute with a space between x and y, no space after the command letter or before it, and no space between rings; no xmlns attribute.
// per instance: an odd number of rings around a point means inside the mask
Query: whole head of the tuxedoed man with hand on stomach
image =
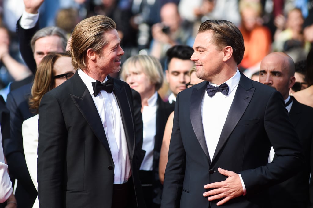
<svg viewBox="0 0 313 208"><path fill-rule="evenodd" d="M200 25L193 49L191 60L196 63L198 78L226 81L244 56L244 39L232 22L207 20Z"/></svg>

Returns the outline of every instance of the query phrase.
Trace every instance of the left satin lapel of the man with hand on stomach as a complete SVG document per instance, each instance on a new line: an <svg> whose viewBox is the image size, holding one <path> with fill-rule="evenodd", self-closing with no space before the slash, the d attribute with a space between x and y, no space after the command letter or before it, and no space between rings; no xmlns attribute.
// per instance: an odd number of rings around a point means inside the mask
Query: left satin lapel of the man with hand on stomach
<svg viewBox="0 0 313 208"><path fill-rule="evenodd" d="M197 139L203 149L205 155L210 159L208 146L205 141L203 124L202 124L202 113L201 113L201 103L203 98L203 93L206 92L206 86L208 82L202 82L198 86L192 87L192 93L190 97L190 120L192 124L193 131L195 132ZM210 161L210 160L209 160Z"/></svg>

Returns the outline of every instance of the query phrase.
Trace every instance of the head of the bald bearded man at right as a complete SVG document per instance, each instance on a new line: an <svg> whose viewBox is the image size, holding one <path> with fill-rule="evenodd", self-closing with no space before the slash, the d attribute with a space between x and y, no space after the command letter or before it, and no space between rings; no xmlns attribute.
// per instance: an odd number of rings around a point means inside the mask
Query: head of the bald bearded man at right
<svg viewBox="0 0 313 208"><path fill-rule="evenodd" d="M283 52L273 52L261 61L259 82L275 88L287 99L295 84L295 63Z"/></svg>

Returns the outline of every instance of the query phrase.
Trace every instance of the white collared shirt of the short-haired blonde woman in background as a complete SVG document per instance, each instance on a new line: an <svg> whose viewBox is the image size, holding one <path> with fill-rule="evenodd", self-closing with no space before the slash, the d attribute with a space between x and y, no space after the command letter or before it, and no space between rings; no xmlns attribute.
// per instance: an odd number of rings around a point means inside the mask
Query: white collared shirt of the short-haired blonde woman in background
<svg viewBox="0 0 313 208"><path fill-rule="evenodd" d="M148 106L143 106L143 143L142 149L146 151L145 157L141 163L140 169L143 171L152 171L153 168L153 150L156 137L156 101L157 92L148 99Z"/></svg>

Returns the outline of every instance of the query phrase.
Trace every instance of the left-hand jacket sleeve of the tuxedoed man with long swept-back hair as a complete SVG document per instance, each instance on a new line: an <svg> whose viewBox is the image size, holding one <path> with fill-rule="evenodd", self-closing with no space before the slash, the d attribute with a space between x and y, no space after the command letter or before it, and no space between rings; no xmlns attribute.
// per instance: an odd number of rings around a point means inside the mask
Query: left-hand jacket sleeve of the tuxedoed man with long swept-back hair
<svg viewBox="0 0 313 208"><path fill-rule="evenodd" d="M39 106L37 181L40 207L64 207L67 130L58 100L44 95Z"/></svg>

